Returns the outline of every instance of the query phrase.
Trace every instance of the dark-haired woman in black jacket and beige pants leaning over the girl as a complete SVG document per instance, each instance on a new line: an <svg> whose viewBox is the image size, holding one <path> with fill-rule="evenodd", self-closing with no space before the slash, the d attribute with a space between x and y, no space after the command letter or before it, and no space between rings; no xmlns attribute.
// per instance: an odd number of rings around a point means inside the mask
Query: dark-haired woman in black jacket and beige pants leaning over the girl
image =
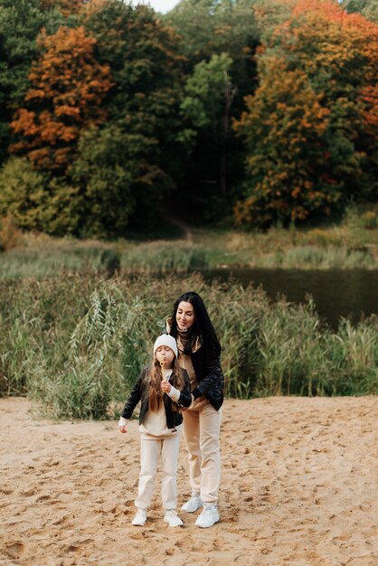
<svg viewBox="0 0 378 566"><path fill-rule="evenodd" d="M170 335L175 337L180 352L178 361L189 374L192 391L192 404L184 410L184 439L189 452L192 496L182 510L194 513L203 506L195 524L211 527L219 521L219 431L224 385L221 344L203 299L194 291L184 293L175 301L168 328Z"/></svg>

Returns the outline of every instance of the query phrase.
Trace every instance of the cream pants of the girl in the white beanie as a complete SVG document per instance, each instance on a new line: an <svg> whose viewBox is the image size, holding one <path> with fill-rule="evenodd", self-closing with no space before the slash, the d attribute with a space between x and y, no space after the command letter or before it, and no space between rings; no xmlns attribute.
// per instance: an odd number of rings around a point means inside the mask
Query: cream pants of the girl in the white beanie
<svg viewBox="0 0 378 566"><path fill-rule="evenodd" d="M162 473L162 501L165 509L177 505L176 476L180 433L164 439L140 439L140 474L135 505L147 509L154 493L155 477L159 461Z"/></svg>

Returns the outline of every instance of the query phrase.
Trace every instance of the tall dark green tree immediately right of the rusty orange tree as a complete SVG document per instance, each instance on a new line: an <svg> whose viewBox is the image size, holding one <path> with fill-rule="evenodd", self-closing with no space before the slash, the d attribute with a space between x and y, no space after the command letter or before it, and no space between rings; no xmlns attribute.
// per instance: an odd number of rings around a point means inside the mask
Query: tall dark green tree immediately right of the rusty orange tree
<svg viewBox="0 0 378 566"><path fill-rule="evenodd" d="M136 205L143 217L174 184L170 172L175 168L172 155L180 127L182 66L178 38L149 7L132 7L120 0L89 4L82 21L98 39L99 61L109 65L114 81L106 108L124 151L124 172L118 170L116 184L123 183L119 175L128 176L126 193L130 190L133 195L125 216ZM110 161L108 169L112 166ZM125 203L126 195L118 192L119 198ZM124 226L125 219L120 218L119 224Z"/></svg>

